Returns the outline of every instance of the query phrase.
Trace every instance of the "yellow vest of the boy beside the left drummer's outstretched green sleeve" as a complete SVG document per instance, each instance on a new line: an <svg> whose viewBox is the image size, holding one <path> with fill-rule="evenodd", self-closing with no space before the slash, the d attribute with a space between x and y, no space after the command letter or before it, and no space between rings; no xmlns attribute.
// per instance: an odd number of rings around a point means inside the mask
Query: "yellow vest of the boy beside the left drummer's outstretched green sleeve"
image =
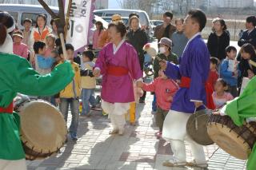
<svg viewBox="0 0 256 170"><path fill-rule="evenodd" d="M74 78L73 78L73 81L71 81L70 84L67 85L66 88L60 92L61 98L74 98L74 97L80 97L81 95L80 68L79 68L79 65L75 62L71 62L71 65L74 69Z"/></svg>

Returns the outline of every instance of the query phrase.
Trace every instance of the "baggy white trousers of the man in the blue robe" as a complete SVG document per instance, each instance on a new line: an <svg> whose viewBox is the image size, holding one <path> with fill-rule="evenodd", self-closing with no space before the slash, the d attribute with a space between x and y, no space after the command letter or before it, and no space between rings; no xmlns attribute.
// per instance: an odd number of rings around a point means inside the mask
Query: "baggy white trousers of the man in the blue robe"
<svg viewBox="0 0 256 170"><path fill-rule="evenodd" d="M162 137L170 142L174 159L177 162L186 162L185 140L190 144L192 156L197 164L206 164L206 156L202 145L190 139L186 132L186 122L191 114L170 110L162 128Z"/></svg>

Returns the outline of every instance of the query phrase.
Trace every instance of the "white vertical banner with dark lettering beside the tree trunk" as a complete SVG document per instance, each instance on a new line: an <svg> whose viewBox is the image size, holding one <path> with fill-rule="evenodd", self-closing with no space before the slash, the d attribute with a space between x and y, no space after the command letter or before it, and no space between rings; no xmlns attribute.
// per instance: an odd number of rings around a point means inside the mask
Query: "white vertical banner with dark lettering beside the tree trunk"
<svg viewBox="0 0 256 170"><path fill-rule="evenodd" d="M74 50L87 45L90 29L90 15L93 13L93 0L72 0L70 8L70 26L66 35L66 43L74 45ZM69 0L66 0L65 11L67 13Z"/></svg>

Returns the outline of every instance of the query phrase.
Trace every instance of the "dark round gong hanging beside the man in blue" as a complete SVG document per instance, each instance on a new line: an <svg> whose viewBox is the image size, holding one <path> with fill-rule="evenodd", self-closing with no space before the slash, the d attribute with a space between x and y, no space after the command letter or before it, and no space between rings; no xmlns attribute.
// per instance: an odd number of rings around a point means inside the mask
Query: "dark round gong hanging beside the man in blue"
<svg viewBox="0 0 256 170"><path fill-rule="evenodd" d="M196 117L198 120L198 128L196 128ZM186 123L186 132L189 134L190 138L198 144L214 144L214 141L210 139L207 132L207 121L209 117L210 115L206 114L206 110L200 110L191 115Z"/></svg>

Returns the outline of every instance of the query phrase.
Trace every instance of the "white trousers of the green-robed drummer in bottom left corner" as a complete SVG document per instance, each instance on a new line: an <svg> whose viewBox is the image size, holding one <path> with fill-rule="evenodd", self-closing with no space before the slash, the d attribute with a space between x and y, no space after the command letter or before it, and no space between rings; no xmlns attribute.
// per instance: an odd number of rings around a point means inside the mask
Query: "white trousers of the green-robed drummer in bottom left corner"
<svg viewBox="0 0 256 170"><path fill-rule="evenodd" d="M26 160L0 160L1 170L26 170Z"/></svg>

